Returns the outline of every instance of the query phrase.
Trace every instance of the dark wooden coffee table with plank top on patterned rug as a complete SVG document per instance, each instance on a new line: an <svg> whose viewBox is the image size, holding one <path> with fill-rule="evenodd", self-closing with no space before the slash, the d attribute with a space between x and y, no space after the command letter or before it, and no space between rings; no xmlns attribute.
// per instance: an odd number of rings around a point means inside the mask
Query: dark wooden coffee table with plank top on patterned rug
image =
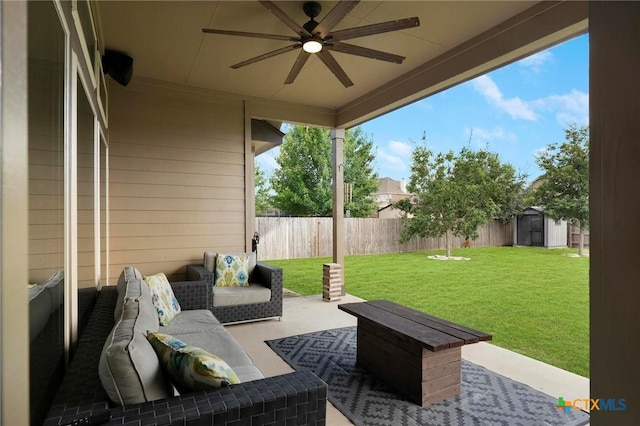
<svg viewBox="0 0 640 426"><path fill-rule="evenodd" d="M458 395L462 345L492 337L387 300L338 309L358 318L358 365L422 406Z"/></svg>

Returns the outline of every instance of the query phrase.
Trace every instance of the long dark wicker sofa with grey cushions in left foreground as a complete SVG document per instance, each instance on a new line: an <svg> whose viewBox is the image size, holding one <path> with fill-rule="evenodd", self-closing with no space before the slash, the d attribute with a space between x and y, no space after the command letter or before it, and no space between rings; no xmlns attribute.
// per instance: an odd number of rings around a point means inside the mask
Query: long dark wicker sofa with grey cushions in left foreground
<svg viewBox="0 0 640 426"><path fill-rule="evenodd" d="M128 321L129 324L129 327L124 327L124 331L134 335L132 340L137 334L136 344L141 346L133 349L131 345L121 345L127 356L120 354L119 362L128 362L127 358L133 359L141 355L147 357L140 367L139 374L130 375L129 380L138 382L142 376L151 380L164 380L158 376L162 375L163 371L159 366L156 368L158 360L155 354L144 347L145 342L141 338L142 334L146 336L144 329L148 327L148 319L142 318L145 315L144 311L148 309L148 305L143 306L148 298L141 285L144 282L141 283L139 273L133 268L123 272L123 276L126 276L126 288L130 292L126 296L122 296L122 277L118 286L120 292L118 287L103 287L99 291L95 307L79 338L70 367L48 412L45 425L73 424L73 421L78 419L92 417L108 418L107 424L127 425L325 424L327 385L309 371L260 378L262 374L251 365L242 348L213 316L207 314L207 311L210 311L210 291L209 285L204 281L171 283L182 309L178 315L185 314L185 317L174 325L173 331L176 334L182 331L180 338L187 343L191 340L206 343L206 335L209 334L218 345L228 345L230 349L228 348L226 356L241 359L239 363L243 366L238 366L239 376L244 376L245 381L214 390L177 396L158 395L154 394L156 391L147 389L145 392L148 392L150 397L141 396L145 401L125 402L124 406L112 402L108 395L110 393L113 396L112 383L109 379L105 381L104 377L104 352L107 346L117 340L113 336L121 335L114 327L121 326L123 321ZM130 286L134 287L133 290ZM114 315L114 311L118 313L117 310L120 308L117 306L123 299L126 301L122 304L123 313L120 314L117 324L114 316L118 315ZM134 308L133 318L131 307ZM189 318L193 319L191 324ZM217 336L214 336L215 334ZM224 352L227 349L219 350ZM102 378L100 374L103 374ZM109 392L105 390L103 383L110 388Z"/></svg>

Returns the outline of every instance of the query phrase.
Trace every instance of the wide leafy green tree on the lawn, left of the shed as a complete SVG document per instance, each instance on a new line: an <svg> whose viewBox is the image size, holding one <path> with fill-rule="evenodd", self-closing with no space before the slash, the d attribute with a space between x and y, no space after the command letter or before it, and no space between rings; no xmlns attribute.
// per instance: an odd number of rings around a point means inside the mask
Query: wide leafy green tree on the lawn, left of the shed
<svg viewBox="0 0 640 426"><path fill-rule="evenodd" d="M422 144L411 160L407 189L415 198L396 205L404 211L401 242L444 236L449 257L453 235L476 239L479 226L518 209L524 177L495 153L462 148L458 155L435 154Z"/></svg>

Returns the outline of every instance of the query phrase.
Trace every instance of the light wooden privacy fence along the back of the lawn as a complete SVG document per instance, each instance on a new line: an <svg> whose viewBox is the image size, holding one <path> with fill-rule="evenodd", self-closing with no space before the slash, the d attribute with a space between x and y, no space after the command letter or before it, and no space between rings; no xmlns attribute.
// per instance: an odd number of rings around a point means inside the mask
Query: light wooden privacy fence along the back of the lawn
<svg viewBox="0 0 640 426"><path fill-rule="evenodd" d="M332 255L333 237L330 217L257 217L260 234L260 259L302 259ZM444 238L412 238L400 244L400 219L345 218L345 254L382 254L444 249ZM494 221L478 230L472 247L513 244L511 222ZM454 237L454 248L464 238Z"/></svg>

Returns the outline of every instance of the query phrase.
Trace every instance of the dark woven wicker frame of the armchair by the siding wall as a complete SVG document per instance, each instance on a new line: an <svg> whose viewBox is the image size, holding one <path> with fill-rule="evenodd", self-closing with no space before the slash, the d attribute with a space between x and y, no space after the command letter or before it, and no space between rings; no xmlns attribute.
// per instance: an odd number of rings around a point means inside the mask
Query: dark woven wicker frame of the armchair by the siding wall
<svg viewBox="0 0 640 426"><path fill-rule="evenodd" d="M215 274L203 265L187 265L187 280L204 281L209 290L215 282ZM277 266L258 262L249 280L271 290L271 299L265 303L250 305L214 307L211 294L208 294L208 309L223 324L282 317L282 269Z"/></svg>

